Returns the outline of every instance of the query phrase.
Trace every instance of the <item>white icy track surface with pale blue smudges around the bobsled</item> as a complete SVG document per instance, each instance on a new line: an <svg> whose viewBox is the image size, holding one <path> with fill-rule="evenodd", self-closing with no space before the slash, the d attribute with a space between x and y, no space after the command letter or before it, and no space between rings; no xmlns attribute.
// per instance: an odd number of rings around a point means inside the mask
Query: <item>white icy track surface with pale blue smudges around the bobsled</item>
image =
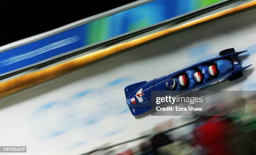
<svg viewBox="0 0 256 155"><path fill-rule="evenodd" d="M243 66L253 66L243 77L207 90L256 90L255 15L254 8L205 23L1 99L0 146L27 146L27 155L70 155L141 136L178 117L133 117L125 86L177 71L226 48L248 50L240 59Z"/></svg>

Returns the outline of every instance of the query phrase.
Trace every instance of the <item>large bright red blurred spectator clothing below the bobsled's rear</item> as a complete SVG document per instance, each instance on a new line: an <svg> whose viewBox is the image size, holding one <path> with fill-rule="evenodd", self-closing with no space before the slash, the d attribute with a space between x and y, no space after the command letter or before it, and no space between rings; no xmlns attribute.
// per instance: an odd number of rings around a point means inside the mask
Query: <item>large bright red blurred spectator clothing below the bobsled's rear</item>
<svg viewBox="0 0 256 155"><path fill-rule="evenodd" d="M223 117L210 117L205 123L195 127L193 135L197 145L201 145L207 155L229 155L227 131L229 121Z"/></svg>

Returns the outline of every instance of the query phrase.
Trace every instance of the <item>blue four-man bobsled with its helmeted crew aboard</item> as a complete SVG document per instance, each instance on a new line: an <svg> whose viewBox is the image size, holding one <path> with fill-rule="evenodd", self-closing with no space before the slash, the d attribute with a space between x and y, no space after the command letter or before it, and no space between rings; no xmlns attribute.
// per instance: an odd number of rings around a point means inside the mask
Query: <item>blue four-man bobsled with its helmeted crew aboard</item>
<svg viewBox="0 0 256 155"><path fill-rule="evenodd" d="M133 115L151 110L151 91L197 91L225 80L235 80L243 76L238 55L234 48L221 51L218 56L194 64L172 74L142 81L125 87L125 97Z"/></svg>

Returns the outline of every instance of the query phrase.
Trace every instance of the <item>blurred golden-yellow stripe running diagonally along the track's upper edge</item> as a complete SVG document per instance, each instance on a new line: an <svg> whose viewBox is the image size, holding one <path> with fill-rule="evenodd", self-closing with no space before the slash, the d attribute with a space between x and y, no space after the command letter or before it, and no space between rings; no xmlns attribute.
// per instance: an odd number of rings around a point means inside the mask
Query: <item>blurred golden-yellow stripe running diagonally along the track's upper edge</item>
<svg viewBox="0 0 256 155"><path fill-rule="evenodd" d="M120 43L118 45L111 46L109 48L105 48L105 49L81 56L79 58L75 58L73 60L64 62L62 64L58 64L56 66L49 67L49 68L41 70L41 71L36 71L33 73L29 73L29 74L26 74L23 76L16 77L14 79L10 79L8 81L0 83L0 97L5 97L9 94L15 93L22 89L26 89L30 86L40 84L44 81L47 81L49 79L60 76L62 74L68 73L69 71L77 69L81 66L84 66L88 63L96 61L100 58L109 56L113 53L117 53L118 51L122 51L124 49L136 46L136 45L144 43L146 41L150 41L150 40L158 38L160 36L164 36L168 33L172 33L174 31L181 30L184 28L188 28L189 26L197 25L199 23L203 23L205 21L212 20L212 19L221 17L223 15L227 15L229 13L234 13L236 11L243 10L243 9L255 6L255 5L256 5L256 0L253 0L253 1L245 3L243 5L239 5L235 8L223 10L218 13L208 15L206 17L203 17L203 18L200 18L197 20L193 20L188 23L184 23L184 24L176 26L174 28L161 30L159 32L156 32L156 33L153 33L153 34L150 34L147 36L143 36L141 38L137 38L132 41Z"/></svg>

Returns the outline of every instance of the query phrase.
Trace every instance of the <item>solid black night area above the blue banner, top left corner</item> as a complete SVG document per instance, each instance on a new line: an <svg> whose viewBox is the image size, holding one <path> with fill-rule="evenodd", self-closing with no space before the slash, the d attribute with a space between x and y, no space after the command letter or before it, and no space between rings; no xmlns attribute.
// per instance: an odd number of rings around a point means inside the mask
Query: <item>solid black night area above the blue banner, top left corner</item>
<svg viewBox="0 0 256 155"><path fill-rule="evenodd" d="M0 46L67 25L136 0L1 0Z"/></svg>

